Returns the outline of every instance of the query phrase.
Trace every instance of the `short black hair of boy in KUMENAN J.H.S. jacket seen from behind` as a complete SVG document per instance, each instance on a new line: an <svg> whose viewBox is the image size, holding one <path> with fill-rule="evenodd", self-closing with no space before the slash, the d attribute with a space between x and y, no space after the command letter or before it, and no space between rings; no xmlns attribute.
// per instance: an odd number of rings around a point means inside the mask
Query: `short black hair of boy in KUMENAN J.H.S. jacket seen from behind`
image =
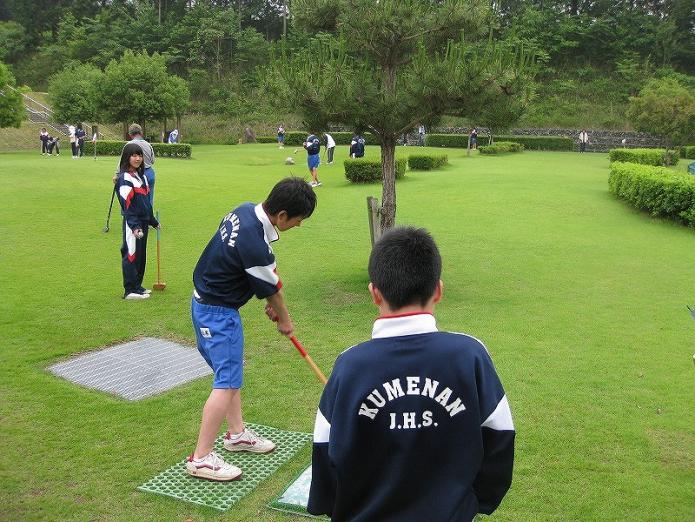
<svg viewBox="0 0 695 522"><path fill-rule="evenodd" d="M369 279L392 310L424 306L434 295L441 275L439 249L424 228L388 230L369 256Z"/></svg>

